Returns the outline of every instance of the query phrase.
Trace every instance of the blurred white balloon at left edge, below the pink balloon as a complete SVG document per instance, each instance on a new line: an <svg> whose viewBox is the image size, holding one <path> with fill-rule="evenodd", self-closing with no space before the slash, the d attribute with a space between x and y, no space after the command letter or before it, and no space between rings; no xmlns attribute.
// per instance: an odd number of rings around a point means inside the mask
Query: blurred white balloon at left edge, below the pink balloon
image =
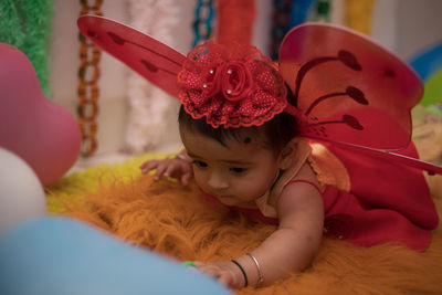
<svg viewBox="0 0 442 295"><path fill-rule="evenodd" d="M0 147L0 235L45 214L45 194L35 172L20 157Z"/></svg>

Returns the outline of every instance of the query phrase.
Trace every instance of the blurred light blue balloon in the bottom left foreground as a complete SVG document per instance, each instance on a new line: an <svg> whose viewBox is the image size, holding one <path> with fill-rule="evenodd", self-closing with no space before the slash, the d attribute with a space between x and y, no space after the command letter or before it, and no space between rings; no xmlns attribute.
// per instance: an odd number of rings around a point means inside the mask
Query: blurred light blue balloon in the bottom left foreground
<svg viewBox="0 0 442 295"><path fill-rule="evenodd" d="M0 261L0 294L231 294L178 261L61 217L2 235Z"/></svg>

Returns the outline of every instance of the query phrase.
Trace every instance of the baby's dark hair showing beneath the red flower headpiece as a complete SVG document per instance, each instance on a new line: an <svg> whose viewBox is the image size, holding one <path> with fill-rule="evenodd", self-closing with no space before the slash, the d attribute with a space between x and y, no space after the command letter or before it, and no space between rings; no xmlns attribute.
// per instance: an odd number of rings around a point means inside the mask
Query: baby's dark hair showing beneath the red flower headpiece
<svg viewBox="0 0 442 295"><path fill-rule="evenodd" d="M287 102L293 102L294 97L290 87L287 87ZM297 135L296 118L288 113L282 112L275 115L271 120L261 126L240 127L240 128L213 128L207 124L206 117L200 119L192 118L181 105L178 116L180 128L187 128L197 131L203 136L215 139L223 146L227 146L227 139L235 139L239 143L249 144L251 137L263 140L263 147L278 152L290 140Z"/></svg>

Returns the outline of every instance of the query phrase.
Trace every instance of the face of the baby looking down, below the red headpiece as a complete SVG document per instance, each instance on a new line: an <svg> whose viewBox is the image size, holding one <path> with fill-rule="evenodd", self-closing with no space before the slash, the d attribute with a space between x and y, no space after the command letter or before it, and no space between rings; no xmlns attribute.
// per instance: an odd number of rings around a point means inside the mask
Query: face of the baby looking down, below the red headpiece
<svg viewBox="0 0 442 295"><path fill-rule="evenodd" d="M198 186L227 206L255 207L280 171L280 157L260 143L228 139L227 146L198 133L181 133L188 155L193 159Z"/></svg>

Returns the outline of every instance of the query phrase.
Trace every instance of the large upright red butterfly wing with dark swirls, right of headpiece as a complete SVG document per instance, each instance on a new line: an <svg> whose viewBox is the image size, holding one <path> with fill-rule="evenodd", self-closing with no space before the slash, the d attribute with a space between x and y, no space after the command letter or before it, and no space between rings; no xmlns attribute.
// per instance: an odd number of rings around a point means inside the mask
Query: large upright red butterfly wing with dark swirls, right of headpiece
<svg viewBox="0 0 442 295"><path fill-rule="evenodd" d="M303 135L379 150L409 145L422 83L366 36L332 24L297 27L281 45L280 70L297 99Z"/></svg>

